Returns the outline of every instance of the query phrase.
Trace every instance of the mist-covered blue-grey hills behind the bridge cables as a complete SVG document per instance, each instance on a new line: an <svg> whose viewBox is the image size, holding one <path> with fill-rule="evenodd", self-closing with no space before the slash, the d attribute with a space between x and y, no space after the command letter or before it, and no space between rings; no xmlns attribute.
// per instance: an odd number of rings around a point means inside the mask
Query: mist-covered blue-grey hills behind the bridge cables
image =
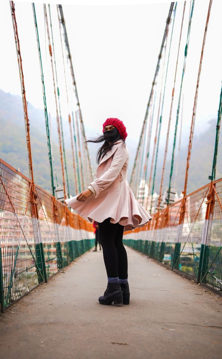
<svg viewBox="0 0 222 359"><path fill-rule="evenodd" d="M46 128L45 116L42 109L34 108L31 103L28 103L28 115L30 122L30 136L32 146L32 160L33 173L35 182L43 189L51 193L50 169L48 164L48 150L46 142ZM83 116L84 119L84 116ZM216 119L209 121L207 130L201 134L194 134L193 148L191 153L189 179L188 179L188 193L209 182L208 176L211 174L212 160L214 153L214 141L216 134ZM8 162L10 165L18 169L20 172L28 174L28 156L26 146L26 132L24 126L24 115L22 99L18 95L5 93L0 90L0 123L1 123L1 141L0 141L0 157ZM70 135L68 128L68 120L63 119L63 130L65 139L66 161L68 167L68 177L70 185L70 195L74 195L74 172L72 163L72 154L70 146ZM96 135L92 128L87 128L85 125L87 138ZM61 185L61 171L59 160L59 145L57 138L56 119L51 118L51 139L52 149L55 160L55 169L57 173L58 182ZM180 161L177 176L177 191L180 192L184 187L184 175L186 169L186 157L188 151L187 143L182 143L180 151ZM135 159L135 152L137 149L138 139L135 141L127 141L126 145L130 154L128 181L130 180L133 162ZM91 156L92 171L96 171L96 151L99 145L88 143L89 152ZM218 157L217 157L217 178L222 177L222 140L219 141ZM168 153L171 155L171 147ZM161 181L161 171L163 163L163 146L159 149L157 174L154 190L158 193ZM177 152L176 152L177 154ZM151 162L151 161L149 161ZM176 158L175 158L176 165ZM149 169L149 168L148 168ZM170 161L166 163L165 178L163 189L168 186L170 175ZM149 172L148 172L149 176ZM173 183L173 182L172 182Z"/></svg>

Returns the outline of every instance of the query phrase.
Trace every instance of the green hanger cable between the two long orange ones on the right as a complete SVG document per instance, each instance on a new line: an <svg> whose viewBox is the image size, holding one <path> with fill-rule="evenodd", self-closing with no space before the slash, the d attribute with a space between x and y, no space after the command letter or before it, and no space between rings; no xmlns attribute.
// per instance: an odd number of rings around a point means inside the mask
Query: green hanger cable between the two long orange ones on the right
<svg viewBox="0 0 222 359"><path fill-rule="evenodd" d="M167 199L166 199L167 205L169 205L169 203L170 203L171 180L172 180L172 174L173 174L173 169L174 169L174 153L175 153L176 135L177 135L179 113L180 113L180 101L181 101L181 93L182 93L182 84L183 84L184 74L185 74L185 69L186 69L186 58L187 58L188 47L189 47L190 29L191 29L191 22L192 22L192 18L193 18L194 3L195 3L195 0L193 0L193 2L192 2L192 7L191 7L191 11L190 11L188 33L187 33L186 46L185 46L185 51L184 51L184 65L183 65L183 69L182 69L180 93L179 93L179 100L178 100L177 113L176 113L176 123L175 123L175 131L174 131L174 143L173 143L171 169L170 169L170 181L169 181L169 186L168 186L168 195L167 195Z"/></svg>

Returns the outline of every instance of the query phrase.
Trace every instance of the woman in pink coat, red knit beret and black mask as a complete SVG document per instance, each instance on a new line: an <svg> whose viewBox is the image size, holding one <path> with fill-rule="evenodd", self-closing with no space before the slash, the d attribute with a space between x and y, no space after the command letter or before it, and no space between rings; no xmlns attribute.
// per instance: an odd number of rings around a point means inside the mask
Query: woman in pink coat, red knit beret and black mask
<svg viewBox="0 0 222 359"><path fill-rule="evenodd" d="M127 181L129 152L126 127L118 118L107 118L103 135L87 142L103 145L97 151L96 179L88 189L65 202L83 218L98 222L108 284L100 304L129 304L128 261L123 232L144 226L149 213L135 199Z"/></svg>

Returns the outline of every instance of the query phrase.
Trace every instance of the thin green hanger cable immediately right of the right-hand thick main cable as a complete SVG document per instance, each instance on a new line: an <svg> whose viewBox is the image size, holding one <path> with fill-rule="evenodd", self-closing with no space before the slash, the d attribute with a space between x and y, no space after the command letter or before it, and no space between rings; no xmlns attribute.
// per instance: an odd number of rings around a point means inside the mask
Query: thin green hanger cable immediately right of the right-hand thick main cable
<svg viewBox="0 0 222 359"><path fill-rule="evenodd" d="M170 47L168 52L168 59L167 59L167 67L166 67L166 75L165 75L165 84L163 89L163 98L162 98L162 105L161 105L161 114L159 117L159 130L158 130L158 137L157 137L157 146L156 146L156 157L155 157L155 165L154 165L154 172L153 172L153 185L152 185L152 193L151 193L151 208L152 208L152 200L153 200L153 192L154 192L154 185L155 185L155 178L156 178L156 169L157 169L157 159L158 159L158 150L159 150L159 138L161 134L161 126L162 126L162 116L163 116L163 104L164 104L164 98L165 98L165 90L166 90L166 81L167 81L167 74L168 74L168 65L170 60L170 50L171 50L171 44L172 44L172 37L174 32L174 22L175 22L175 15L176 15L176 6L177 2L174 7L174 20L172 24L172 32L171 32L171 38L170 38ZM166 45L167 45L167 39L166 39ZM151 209L150 209L151 210Z"/></svg>

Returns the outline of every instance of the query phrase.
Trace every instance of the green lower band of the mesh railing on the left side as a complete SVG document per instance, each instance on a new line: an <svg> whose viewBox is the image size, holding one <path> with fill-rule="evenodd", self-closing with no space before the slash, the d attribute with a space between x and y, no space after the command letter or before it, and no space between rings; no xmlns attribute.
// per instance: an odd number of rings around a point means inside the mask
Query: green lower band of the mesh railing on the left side
<svg viewBox="0 0 222 359"><path fill-rule="evenodd" d="M1 311L93 246L94 239L84 239L0 247Z"/></svg>

